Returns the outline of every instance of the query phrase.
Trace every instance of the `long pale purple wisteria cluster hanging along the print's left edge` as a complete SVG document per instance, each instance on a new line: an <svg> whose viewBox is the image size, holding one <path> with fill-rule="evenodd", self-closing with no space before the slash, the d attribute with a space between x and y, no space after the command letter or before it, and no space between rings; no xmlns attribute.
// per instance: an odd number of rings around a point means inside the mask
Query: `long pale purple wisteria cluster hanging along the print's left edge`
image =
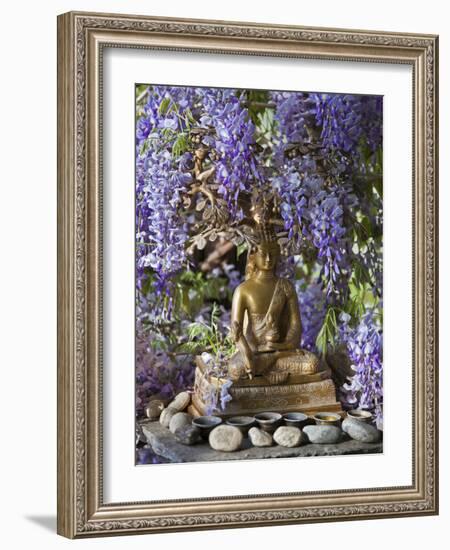
<svg viewBox="0 0 450 550"><path fill-rule="evenodd" d="M186 158L173 147L187 130L192 89L154 86L136 122L136 244L138 290L145 268L156 273L159 294L169 294L170 280L186 261L187 225L180 206L192 181ZM189 111L190 112L190 111Z"/></svg>

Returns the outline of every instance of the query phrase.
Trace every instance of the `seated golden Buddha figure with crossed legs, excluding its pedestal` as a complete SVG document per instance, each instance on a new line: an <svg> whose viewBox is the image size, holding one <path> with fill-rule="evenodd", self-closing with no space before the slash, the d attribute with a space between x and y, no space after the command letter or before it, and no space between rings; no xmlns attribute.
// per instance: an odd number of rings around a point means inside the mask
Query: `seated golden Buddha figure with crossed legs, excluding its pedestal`
<svg viewBox="0 0 450 550"><path fill-rule="evenodd" d="M280 383L290 374L314 374L319 359L299 349L302 325L297 293L288 279L277 277L280 255L276 240L262 241L249 254L246 280L233 295L231 335L237 352L231 358L231 380L264 376Z"/></svg>

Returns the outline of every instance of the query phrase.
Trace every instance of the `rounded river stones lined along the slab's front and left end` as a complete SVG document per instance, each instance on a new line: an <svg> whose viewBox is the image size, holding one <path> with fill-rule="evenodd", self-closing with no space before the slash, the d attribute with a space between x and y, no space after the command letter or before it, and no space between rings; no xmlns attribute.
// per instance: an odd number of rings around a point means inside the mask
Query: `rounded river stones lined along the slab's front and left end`
<svg viewBox="0 0 450 550"><path fill-rule="evenodd" d="M188 392L179 393L167 406L163 401L153 400L147 407L147 416L157 420L170 430L175 439L183 445L194 445L202 439L216 451L233 452L242 448L245 437L248 437L254 447L299 447L306 444L337 444L349 438L363 443L377 443L382 438L382 432L373 426L367 419L362 420L350 415L331 424L314 424L308 419L306 425L300 427L292 425L276 425L266 427L253 425L250 429L242 429L234 425L222 423L219 417L203 417L216 419L208 429L199 427L193 416L185 410L191 402ZM273 414L273 413L266 413ZM339 419L339 416L338 416ZM195 425L197 423L197 425ZM256 424L255 421L253 424ZM344 435L346 434L346 435Z"/></svg>

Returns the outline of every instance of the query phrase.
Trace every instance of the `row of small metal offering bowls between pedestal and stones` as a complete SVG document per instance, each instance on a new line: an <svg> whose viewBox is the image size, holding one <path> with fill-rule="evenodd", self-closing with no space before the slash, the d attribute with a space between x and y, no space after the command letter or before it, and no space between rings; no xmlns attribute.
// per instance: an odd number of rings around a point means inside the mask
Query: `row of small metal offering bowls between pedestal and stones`
<svg viewBox="0 0 450 550"><path fill-rule="evenodd" d="M372 420L372 414L364 410L348 411L347 415L361 422L370 422ZM262 412L255 414L255 416L233 416L226 419L225 423L229 426L239 428L242 435L247 437L248 431L254 426L272 434L283 424L285 426L294 426L300 429L304 428L307 424L313 423L339 427L341 420L342 418L339 414L332 412L319 412L312 417L301 412L289 412L285 414ZM198 416L192 420L192 424L200 430L203 439L208 439L210 432L222 424L222 422L223 419L220 418L220 416Z"/></svg>

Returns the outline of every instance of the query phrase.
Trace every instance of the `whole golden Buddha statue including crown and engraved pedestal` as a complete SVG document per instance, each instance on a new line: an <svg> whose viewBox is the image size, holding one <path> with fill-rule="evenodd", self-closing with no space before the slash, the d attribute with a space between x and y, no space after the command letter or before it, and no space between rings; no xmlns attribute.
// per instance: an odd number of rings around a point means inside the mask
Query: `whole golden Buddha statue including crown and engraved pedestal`
<svg viewBox="0 0 450 550"><path fill-rule="evenodd" d="M237 349L226 366L227 377L211 374L202 357L196 357L189 407L195 416L210 414L206 412L208 395L220 392L230 380L231 401L221 416L341 410L330 369L317 355L299 348L302 324L297 293L288 279L276 274L277 222L267 211L252 210L255 246L248 254L245 281L233 295L230 328Z"/></svg>

